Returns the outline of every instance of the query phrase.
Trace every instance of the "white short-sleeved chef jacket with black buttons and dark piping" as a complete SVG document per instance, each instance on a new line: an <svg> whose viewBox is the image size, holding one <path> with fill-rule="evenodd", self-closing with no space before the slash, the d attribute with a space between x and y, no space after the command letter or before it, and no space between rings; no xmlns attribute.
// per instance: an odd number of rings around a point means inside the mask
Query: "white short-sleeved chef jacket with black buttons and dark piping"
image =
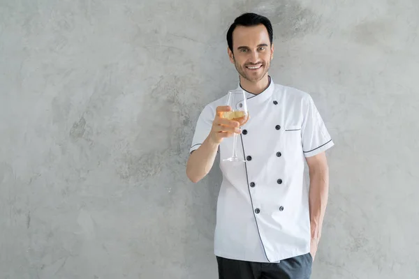
<svg viewBox="0 0 419 279"><path fill-rule="evenodd" d="M246 93L251 118L237 136L237 156L246 161L223 162L233 154L233 137L224 138L219 146L223 180L214 253L229 259L279 262L310 251L304 161L334 143L308 93L274 84L272 79L262 93ZM209 135L216 107L226 101L223 96L205 106L190 152Z"/></svg>

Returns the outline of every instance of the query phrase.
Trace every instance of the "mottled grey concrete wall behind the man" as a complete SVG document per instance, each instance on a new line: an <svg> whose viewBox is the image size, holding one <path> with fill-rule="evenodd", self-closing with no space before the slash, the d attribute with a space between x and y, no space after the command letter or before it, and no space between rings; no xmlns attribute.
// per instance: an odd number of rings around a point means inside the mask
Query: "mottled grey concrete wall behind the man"
<svg viewBox="0 0 419 279"><path fill-rule="evenodd" d="M245 11L335 140L312 278L419 277L417 0L0 0L0 278L216 278L185 165Z"/></svg>

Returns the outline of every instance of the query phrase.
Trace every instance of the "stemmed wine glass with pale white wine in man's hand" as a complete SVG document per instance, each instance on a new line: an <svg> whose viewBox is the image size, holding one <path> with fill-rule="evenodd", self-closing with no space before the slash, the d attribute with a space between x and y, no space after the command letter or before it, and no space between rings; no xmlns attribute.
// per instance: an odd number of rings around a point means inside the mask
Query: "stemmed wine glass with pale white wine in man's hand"
<svg viewBox="0 0 419 279"><path fill-rule="evenodd" d="M228 91L227 105L231 107L230 112L223 112L223 118L237 121L242 127L249 119L249 112L247 111L246 94L242 89L234 89ZM230 162L244 162L244 160L237 157L237 133L233 134L233 156L226 158L223 161Z"/></svg>

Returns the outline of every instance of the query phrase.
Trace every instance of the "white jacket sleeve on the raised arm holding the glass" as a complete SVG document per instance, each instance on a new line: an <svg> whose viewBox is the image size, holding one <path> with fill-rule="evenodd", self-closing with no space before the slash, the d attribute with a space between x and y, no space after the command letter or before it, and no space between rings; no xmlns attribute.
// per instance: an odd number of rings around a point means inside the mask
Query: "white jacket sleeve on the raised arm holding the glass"
<svg viewBox="0 0 419 279"><path fill-rule="evenodd" d="M195 133L193 134L191 149L189 149L189 153L192 153L192 151L198 149L199 146L203 144L208 135L210 135L214 117L215 111L212 110L210 105L205 106L198 117L198 121L196 122Z"/></svg>

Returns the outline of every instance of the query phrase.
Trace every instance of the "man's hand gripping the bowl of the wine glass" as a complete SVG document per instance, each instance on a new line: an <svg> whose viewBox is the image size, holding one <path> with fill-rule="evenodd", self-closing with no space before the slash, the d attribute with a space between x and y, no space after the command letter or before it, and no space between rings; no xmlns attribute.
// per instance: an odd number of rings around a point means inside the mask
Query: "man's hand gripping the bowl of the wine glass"
<svg viewBox="0 0 419 279"><path fill-rule="evenodd" d="M223 118L223 112L230 112L231 107L222 105L216 107L216 115L212 121L212 128L210 132L210 139L215 144L220 144L224 137L232 137L234 133L240 134L240 123L238 121L228 120Z"/></svg>

